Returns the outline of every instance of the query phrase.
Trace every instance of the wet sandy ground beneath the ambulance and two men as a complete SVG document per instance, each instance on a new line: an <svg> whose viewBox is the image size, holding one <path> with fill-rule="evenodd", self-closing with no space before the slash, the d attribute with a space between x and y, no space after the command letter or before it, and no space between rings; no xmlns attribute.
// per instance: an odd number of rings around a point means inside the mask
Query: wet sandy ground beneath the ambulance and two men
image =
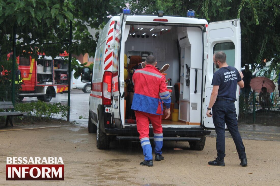
<svg viewBox="0 0 280 186"><path fill-rule="evenodd" d="M1 129L3 130L3 129ZM248 166L240 160L232 139L226 139L225 167L209 166L216 157L214 137L203 151L188 142L164 142L164 160L153 167L143 161L139 142L111 142L96 148L96 135L87 128L66 127L0 132L1 185L279 185L280 143L243 140ZM62 157L64 181L6 181L6 157Z"/></svg>

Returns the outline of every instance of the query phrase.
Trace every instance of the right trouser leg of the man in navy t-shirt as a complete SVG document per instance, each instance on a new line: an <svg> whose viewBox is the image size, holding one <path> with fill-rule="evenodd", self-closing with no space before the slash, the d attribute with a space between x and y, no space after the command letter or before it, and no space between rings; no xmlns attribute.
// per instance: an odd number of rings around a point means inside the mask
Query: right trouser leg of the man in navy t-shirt
<svg viewBox="0 0 280 186"><path fill-rule="evenodd" d="M242 138L238 131L237 118L235 112L235 105L228 109L228 114L225 116L225 123L227 124L228 131L230 132L232 139L235 143L235 147L239 156L239 159L246 158L245 147L242 142Z"/></svg>

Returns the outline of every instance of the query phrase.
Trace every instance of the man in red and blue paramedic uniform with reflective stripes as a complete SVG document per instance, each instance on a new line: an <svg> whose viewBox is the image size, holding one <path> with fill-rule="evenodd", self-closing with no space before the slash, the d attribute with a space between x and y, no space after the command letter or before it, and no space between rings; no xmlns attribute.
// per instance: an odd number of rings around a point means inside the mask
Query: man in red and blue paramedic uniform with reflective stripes
<svg viewBox="0 0 280 186"><path fill-rule="evenodd" d="M131 109L135 110L137 131L139 132L141 146L145 159L140 165L153 166L152 147L149 139L149 124L153 125L155 161L163 160L162 156L162 126L161 116L163 104L165 116L170 116L171 98L165 84L165 76L155 66L157 60L150 55L146 58L146 67L136 70L132 81L134 84L134 97Z"/></svg>

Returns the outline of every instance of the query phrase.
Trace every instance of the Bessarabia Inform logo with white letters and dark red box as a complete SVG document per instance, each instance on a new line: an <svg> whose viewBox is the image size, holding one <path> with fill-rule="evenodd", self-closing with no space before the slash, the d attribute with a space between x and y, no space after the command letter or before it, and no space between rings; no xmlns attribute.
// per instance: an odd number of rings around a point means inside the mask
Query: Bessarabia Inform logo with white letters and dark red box
<svg viewBox="0 0 280 186"><path fill-rule="evenodd" d="M59 157L7 157L6 180L64 180Z"/></svg>

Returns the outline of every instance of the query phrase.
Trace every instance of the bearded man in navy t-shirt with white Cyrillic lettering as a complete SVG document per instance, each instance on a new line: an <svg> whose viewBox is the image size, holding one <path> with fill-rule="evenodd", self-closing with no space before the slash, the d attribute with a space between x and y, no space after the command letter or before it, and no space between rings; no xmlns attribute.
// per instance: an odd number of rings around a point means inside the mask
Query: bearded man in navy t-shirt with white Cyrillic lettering
<svg viewBox="0 0 280 186"><path fill-rule="evenodd" d="M228 131L232 135L239 159L241 160L240 165L247 166L245 147L238 131L234 104L236 101L237 84L241 88L244 87L243 74L242 72L239 73L236 68L228 66L226 59L227 56L222 51L213 55L213 63L219 70L213 75L213 90L206 115L211 117L212 113L210 111L213 109L213 123L217 134L217 158L214 161L209 161L208 164L225 166L225 124L227 124Z"/></svg>

